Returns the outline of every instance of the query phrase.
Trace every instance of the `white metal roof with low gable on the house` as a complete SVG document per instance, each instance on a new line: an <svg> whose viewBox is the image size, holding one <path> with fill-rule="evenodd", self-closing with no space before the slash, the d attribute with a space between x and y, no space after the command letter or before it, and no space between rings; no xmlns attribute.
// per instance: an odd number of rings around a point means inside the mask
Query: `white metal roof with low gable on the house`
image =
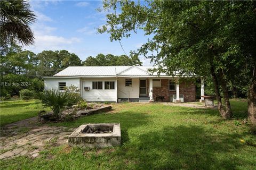
<svg viewBox="0 0 256 170"><path fill-rule="evenodd" d="M69 66L53 77L150 76L152 73L148 69L153 68L154 66Z"/></svg>

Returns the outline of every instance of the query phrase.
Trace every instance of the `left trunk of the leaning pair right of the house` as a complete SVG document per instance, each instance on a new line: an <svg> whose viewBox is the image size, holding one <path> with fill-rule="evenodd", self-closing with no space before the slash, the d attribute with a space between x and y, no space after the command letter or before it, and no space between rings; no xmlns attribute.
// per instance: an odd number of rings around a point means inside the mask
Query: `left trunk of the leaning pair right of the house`
<svg viewBox="0 0 256 170"><path fill-rule="evenodd" d="M217 101L218 101L218 110L219 110L219 112L220 112L220 114L223 118L227 118L226 117L226 111L222 106L221 97L220 97L219 83L218 83L217 76L214 72L214 67L213 66L211 66L211 74L212 74L213 84L214 84L214 88L215 88L216 98L217 98Z"/></svg>

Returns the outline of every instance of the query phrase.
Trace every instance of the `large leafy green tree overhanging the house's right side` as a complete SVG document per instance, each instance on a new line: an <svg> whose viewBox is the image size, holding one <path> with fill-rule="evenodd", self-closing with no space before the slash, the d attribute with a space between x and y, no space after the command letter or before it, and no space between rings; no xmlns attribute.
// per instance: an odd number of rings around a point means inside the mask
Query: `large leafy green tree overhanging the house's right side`
<svg viewBox="0 0 256 170"><path fill-rule="evenodd" d="M153 35L138 54L151 58L159 66L158 72L211 75L223 118L232 116L228 80L232 74L246 75L250 85L248 117L256 123L255 2L113 0L104 1L103 8L114 11L99 29L110 33L111 41L130 37L138 29ZM148 52L156 55L148 56Z"/></svg>

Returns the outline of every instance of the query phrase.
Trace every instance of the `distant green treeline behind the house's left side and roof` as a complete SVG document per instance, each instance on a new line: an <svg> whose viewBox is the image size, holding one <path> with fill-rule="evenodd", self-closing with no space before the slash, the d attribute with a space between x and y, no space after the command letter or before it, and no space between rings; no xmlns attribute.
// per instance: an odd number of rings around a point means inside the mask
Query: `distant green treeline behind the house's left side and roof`
<svg viewBox="0 0 256 170"><path fill-rule="evenodd" d="M43 90L43 76L52 76L68 66L141 65L139 57L112 54L89 56L85 61L67 50L44 50L35 54L17 44L1 47L1 97L19 95L22 89Z"/></svg>

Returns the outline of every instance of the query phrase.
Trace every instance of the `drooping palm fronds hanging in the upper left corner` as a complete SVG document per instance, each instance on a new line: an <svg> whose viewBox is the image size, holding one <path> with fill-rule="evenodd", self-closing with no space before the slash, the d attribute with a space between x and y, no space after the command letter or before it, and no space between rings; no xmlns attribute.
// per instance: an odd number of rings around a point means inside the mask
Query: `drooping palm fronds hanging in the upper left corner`
<svg viewBox="0 0 256 170"><path fill-rule="evenodd" d="M17 39L22 45L34 43L34 35L29 24L36 20L36 15L30 11L28 2L24 0L0 1L0 33L1 46Z"/></svg>

